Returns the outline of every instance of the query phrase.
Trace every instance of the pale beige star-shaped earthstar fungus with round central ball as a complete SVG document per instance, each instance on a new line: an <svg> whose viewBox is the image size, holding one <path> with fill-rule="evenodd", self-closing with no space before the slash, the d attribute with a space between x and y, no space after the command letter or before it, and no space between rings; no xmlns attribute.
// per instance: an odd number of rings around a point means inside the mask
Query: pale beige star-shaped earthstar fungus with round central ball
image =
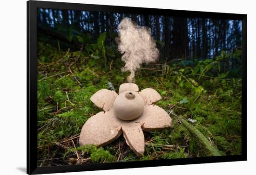
<svg viewBox="0 0 256 175"><path fill-rule="evenodd" d="M136 84L124 83L119 87L119 95L115 91L101 89L90 100L104 112L92 116L83 125L80 145L104 146L123 133L130 148L137 156L142 156L145 147L143 131L172 126L168 113L154 105L161 96L152 88L139 92Z"/></svg>

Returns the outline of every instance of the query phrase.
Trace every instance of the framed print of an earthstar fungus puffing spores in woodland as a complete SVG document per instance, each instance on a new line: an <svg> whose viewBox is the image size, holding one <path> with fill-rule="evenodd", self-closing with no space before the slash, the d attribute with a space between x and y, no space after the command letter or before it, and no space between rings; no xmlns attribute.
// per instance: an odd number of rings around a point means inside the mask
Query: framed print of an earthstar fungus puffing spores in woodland
<svg viewBox="0 0 256 175"><path fill-rule="evenodd" d="M27 174L247 160L246 18L27 1Z"/></svg>

